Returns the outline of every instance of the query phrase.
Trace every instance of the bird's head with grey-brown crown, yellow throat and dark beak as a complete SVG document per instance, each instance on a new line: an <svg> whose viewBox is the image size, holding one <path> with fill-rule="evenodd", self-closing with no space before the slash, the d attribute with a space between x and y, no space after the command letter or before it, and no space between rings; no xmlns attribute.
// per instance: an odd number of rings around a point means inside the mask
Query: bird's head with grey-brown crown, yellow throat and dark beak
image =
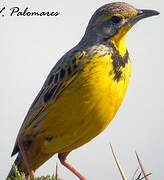
<svg viewBox="0 0 164 180"><path fill-rule="evenodd" d="M93 14L85 35L90 41L111 41L123 56L125 36L131 27L143 18L158 14L154 10L136 9L124 2L106 4Z"/></svg>

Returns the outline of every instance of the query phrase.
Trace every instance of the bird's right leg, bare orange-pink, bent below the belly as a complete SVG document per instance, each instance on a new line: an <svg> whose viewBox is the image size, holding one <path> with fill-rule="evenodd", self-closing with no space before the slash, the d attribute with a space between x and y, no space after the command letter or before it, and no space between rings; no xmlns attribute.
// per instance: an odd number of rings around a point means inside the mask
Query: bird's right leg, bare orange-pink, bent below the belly
<svg viewBox="0 0 164 180"><path fill-rule="evenodd" d="M58 158L63 166L73 172L80 180L86 180L84 176L82 176L76 169L74 169L67 161L66 156L64 153L59 153Z"/></svg>

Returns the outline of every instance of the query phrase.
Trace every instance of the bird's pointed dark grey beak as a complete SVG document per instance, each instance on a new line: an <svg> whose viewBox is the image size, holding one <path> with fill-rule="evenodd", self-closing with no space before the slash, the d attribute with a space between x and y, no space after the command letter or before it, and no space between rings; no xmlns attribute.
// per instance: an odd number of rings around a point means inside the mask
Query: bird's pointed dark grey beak
<svg viewBox="0 0 164 180"><path fill-rule="evenodd" d="M137 14L135 16L133 16L132 18L129 19L130 24L135 24L138 21L140 21L141 19L150 17L150 16L155 16L160 14L158 11L155 10L144 10L144 9L138 9L137 10Z"/></svg>

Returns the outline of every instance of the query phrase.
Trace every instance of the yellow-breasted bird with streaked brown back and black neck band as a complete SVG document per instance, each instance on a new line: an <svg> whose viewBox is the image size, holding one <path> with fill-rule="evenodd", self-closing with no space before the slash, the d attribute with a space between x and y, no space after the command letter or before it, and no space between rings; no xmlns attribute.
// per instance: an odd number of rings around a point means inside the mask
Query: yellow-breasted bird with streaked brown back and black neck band
<svg viewBox="0 0 164 180"><path fill-rule="evenodd" d="M158 14L125 2L95 11L80 42L55 64L27 112L11 155L18 154L19 171L35 177L35 170L58 154L62 165L86 180L66 158L114 118L131 75L127 32ZM8 177L14 177L12 169Z"/></svg>

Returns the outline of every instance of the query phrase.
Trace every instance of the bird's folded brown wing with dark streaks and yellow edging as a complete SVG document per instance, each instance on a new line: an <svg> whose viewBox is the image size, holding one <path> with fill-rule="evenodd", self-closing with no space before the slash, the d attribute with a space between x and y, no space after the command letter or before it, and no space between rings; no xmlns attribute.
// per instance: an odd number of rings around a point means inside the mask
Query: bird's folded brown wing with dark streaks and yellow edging
<svg viewBox="0 0 164 180"><path fill-rule="evenodd" d="M77 60L82 59L84 54L84 51L68 52L54 66L29 109L19 130L17 140L20 137L23 138L23 135L27 131L30 131L31 127L37 126L42 117L44 117L45 110L48 109L52 103L55 103L59 94L77 77L80 72ZM11 156L19 151L17 140Z"/></svg>

